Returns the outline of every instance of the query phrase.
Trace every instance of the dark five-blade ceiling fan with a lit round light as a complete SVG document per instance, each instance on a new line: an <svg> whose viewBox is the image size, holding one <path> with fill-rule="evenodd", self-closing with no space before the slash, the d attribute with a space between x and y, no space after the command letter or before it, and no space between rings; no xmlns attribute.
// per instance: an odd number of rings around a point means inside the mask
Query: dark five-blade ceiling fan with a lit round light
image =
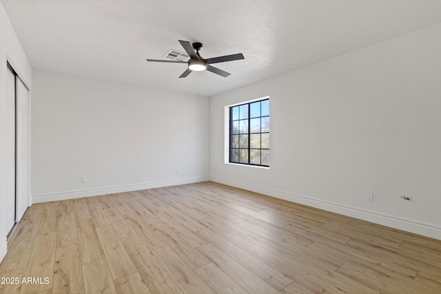
<svg viewBox="0 0 441 294"><path fill-rule="evenodd" d="M183 74L181 74L179 78L185 78L186 76L191 74L192 71L200 72L202 70L208 70L209 72L213 72L214 74L218 74L219 76L223 76L224 78L226 78L227 76L230 75L229 72L219 70L217 67L214 67L211 64L245 59L242 53L218 56L218 57L213 57L211 59L203 59L201 54L199 54L199 50L202 49L202 43L195 42L193 44L190 44L189 41L182 41L182 40L179 40L179 43L181 43L182 47L185 49L185 52L187 52L188 56L190 56L189 61L169 61L169 60L158 60L158 59L147 59L147 61L167 62L167 63L188 63L187 70L185 70L185 72L183 72Z"/></svg>

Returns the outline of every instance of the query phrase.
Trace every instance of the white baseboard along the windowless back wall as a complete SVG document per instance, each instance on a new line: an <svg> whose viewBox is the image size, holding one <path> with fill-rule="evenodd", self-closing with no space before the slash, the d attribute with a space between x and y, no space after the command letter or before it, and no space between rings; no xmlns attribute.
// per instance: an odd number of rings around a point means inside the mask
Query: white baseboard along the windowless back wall
<svg viewBox="0 0 441 294"><path fill-rule="evenodd" d="M194 178L181 178L178 180L163 180L158 182L147 182L143 184L136 185L125 185L125 186L114 186L114 187L103 187L98 189L87 189L78 191L65 191L61 193L50 193L32 196L32 203L42 203L57 200L68 200L74 198L83 198L90 196L106 195L111 193L123 193L128 191L138 191L144 189L161 188L176 185L192 184L194 182L205 182L209 180L209 176L201 176Z"/></svg>

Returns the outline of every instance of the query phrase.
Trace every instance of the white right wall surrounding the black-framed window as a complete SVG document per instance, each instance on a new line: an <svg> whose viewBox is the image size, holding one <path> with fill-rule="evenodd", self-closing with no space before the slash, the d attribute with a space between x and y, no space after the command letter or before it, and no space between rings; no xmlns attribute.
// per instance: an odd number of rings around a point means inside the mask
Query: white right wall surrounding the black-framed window
<svg viewBox="0 0 441 294"><path fill-rule="evenodd" d="M433 25L212 97L212 180L441 239L440 36ZM225 105L267 95L270 168L224 164Z"/></svg>

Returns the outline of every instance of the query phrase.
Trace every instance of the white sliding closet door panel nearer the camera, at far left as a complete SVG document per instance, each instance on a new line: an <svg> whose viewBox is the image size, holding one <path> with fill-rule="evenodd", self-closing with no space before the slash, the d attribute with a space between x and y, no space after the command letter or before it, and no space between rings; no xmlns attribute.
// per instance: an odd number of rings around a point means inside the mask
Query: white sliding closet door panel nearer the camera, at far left
<svg viewBox="0 0 441 294"><path fill-rule="evenodd" d="M6 232L9 232L15 223L15 75L9 69L6 72L8 96L8 194L6 195Z"/></svg>

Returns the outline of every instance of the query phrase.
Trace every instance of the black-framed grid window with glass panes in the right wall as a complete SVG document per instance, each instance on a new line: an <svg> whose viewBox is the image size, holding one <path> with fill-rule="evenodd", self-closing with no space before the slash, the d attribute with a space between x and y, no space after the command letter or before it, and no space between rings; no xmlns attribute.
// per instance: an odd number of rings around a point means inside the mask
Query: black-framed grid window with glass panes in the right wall
<svg viewBox="0 0 441 294"><path fill-rule="evenodd" d="M269 167L269 99L229 107L229 162Z"/></svg>

